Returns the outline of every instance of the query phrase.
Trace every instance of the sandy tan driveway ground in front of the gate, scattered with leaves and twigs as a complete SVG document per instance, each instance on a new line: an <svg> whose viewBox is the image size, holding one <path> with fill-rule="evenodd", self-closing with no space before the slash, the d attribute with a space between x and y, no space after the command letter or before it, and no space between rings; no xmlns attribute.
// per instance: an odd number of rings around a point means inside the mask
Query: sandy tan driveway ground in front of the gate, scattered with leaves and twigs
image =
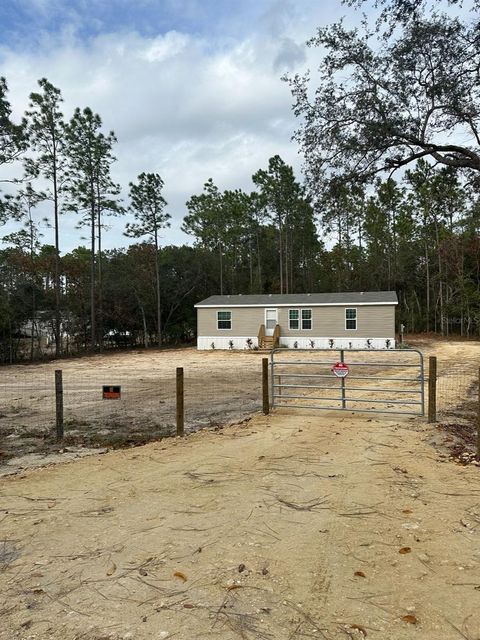
<svg viewBox="0 0 480 640"><path fill-rule="evenodd" d="M480 470L443 438L278 410L5 478L0 638L478 640Z"/></svg>

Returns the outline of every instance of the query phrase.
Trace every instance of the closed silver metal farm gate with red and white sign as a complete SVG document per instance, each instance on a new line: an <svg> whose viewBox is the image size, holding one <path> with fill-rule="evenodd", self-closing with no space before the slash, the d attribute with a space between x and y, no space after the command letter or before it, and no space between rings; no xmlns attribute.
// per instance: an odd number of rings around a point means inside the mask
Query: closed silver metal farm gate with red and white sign
<svg viewBox="0 0 480 640"><path fill-rule="evenodd" d="M273 349L272 408L424 415L416 349Z"/></svg>

